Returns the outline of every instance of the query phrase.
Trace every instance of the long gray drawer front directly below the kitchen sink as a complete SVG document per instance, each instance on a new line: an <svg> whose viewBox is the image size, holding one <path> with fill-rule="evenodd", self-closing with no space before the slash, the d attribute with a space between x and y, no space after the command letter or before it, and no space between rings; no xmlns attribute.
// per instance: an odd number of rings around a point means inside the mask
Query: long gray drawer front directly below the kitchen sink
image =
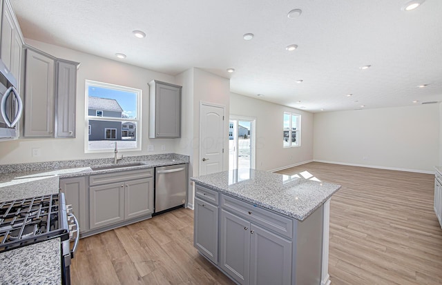
<svg viewBox="0 0 442 285"><path fill-rule="evenodd" d="M113 173L90 175L89 186L96 186L101 184L130 181L133 179L142 179L153 177L153 168L146 168L141 170L126 170L117 171Z"/></svg>

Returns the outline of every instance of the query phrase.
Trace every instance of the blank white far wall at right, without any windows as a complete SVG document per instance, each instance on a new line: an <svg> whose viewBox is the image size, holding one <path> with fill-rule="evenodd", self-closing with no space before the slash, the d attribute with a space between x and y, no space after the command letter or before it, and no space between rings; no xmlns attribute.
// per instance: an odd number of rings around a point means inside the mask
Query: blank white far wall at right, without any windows
<svg viewBox="0 0 442 285"><path fill-rule="evenodd" d="M439 104L316 113L314 160L432 173Z"/></svg>

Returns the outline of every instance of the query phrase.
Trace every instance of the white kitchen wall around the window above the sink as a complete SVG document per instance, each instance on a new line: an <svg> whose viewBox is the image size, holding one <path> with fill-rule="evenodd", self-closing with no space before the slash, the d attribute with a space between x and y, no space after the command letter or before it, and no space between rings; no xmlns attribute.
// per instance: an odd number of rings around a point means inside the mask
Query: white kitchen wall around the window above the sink
<svg viewBox="0 0 442 285"><path fill-rule="evenodd" d="M77 71L77 136L75 139L22 138L16 141L2 141L0 148L0 164L112 157L113 153L84 153L84 130L86 124L84 117L84 86L86 79L139 88L142 90L142 151L128 152L124 153L124 155L148 155L175 152L175 145L177 144L175 139L148 139L148 82L152 79L157 79L160 81L175 83L175 77L31 39L26 39L26 43L55 57L81 63L81 66ZM147 153L148 144L153 144L155 146L155 152ZM160 151L162 145L166 146L166 150ZM32 148L41 148L41 157L32 157Z"/></svg>

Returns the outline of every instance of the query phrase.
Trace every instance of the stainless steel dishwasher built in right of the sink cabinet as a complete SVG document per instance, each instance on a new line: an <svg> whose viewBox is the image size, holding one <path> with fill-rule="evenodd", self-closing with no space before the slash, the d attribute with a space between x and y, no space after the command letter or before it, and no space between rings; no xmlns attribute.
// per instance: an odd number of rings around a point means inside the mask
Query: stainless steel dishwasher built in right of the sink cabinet
<svg viewBox="0 0 442 285"><path fill-rule="evenodd" d="M155 168L155 213L183 206L187 193L187 164Z"/></svg>

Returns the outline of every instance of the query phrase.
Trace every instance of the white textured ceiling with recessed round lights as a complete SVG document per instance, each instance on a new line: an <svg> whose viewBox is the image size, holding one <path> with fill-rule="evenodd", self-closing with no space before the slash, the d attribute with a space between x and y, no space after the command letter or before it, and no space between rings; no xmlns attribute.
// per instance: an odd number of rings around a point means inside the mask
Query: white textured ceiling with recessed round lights
<svg viewBox="0 0 442 285"><path fill-rule="evenodd" d="M230 78L231 92L322 112L442 101L442 1L405 12L408 1L11 3L24 37L170 75L202 68ZM289 19L296 8L302 14ZM251 41L242 39L248 32ZM290 44L298 49L285 50Z"/></svg>

